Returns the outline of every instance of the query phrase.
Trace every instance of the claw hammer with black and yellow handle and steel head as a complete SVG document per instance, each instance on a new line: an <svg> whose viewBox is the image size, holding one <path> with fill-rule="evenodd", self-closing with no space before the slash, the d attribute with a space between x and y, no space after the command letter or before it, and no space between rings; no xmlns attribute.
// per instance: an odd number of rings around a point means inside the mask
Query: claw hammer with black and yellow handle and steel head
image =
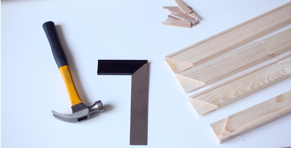
<svg viewBox="0 0 291 148"><path fill-rule="evenodd" d="M58 37L54 22L46 22L42 25L42 28L46 34L53 56L66 84L72 104L71 108L73 111L72 114L62 114L56 111L52 111L53 117L66 122L78 122L88 119L93 112L103 112L103 104L100 100L96 101L92 106L89 107L82 103L73 82L73 77L69 68L67 57Z"/></svg>

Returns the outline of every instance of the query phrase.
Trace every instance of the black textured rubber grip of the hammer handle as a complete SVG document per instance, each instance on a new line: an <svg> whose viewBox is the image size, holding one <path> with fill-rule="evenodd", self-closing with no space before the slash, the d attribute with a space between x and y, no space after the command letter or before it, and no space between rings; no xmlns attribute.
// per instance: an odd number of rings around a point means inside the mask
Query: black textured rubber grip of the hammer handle
<svg viewBox="0 0 291 148"><path fill-rule="evenodd" d="M57 34L55 23L45 22L42 25L42 28L46 34L46 37L51 47L51 51L54 55L58 67L60 68L62 66L68 65L68 60L63 49L63 46L60 42L59 36Z"/></svg>

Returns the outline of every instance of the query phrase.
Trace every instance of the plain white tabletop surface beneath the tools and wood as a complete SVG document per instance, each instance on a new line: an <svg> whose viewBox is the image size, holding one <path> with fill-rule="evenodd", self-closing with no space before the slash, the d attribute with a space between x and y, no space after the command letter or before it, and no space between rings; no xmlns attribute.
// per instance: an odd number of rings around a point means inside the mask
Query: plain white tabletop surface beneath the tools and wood
<svg viewBox="0 0 291 148"><path fill-rule="evenodd" d="M183 0L202 18L193 28L163 26L174 0L1 0L1 148L282 148L291 114L223 144L210 127L287 92L291 78L197 116L188 96L291 53L287 51L185 94L164 58L290 0ZM105 112L78 123L52 117L71 103L42 24L54 21L82 101ZM266 36L291 28L291 24ZM252 43L250 42L250 43ZM248 44L250 44L248 43ZM245 46L245 45L244 45ZM150 63L148 146L129 146L131 76L97 75L98 59Z"/></svg>

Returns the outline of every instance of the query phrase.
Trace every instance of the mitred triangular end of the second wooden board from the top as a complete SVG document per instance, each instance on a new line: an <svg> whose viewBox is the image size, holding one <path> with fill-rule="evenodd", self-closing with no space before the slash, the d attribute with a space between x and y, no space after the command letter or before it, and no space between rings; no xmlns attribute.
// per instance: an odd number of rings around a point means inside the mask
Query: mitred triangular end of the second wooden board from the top
<svg viewBox="0 0 291 148"><path fill-rule="evenodd" d="M183 76L180 76L179 74L177 74L177 79L179 80L185 93L193 91L193 90L200 88L202 86L205 86L205 83L203 84L203 82L199 83L197 81L190 80L190 78L185 78Z"/></svg>

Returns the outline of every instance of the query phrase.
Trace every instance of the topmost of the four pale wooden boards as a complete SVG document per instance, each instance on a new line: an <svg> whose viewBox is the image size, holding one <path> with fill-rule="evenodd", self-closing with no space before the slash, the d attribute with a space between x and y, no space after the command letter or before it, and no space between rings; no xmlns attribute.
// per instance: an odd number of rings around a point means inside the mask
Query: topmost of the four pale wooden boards
<svg viewBox="0 0 291 148"><path fill-rule="evenodd" d="M291 23L291 2L166 56L175 74Z"/></svg>

